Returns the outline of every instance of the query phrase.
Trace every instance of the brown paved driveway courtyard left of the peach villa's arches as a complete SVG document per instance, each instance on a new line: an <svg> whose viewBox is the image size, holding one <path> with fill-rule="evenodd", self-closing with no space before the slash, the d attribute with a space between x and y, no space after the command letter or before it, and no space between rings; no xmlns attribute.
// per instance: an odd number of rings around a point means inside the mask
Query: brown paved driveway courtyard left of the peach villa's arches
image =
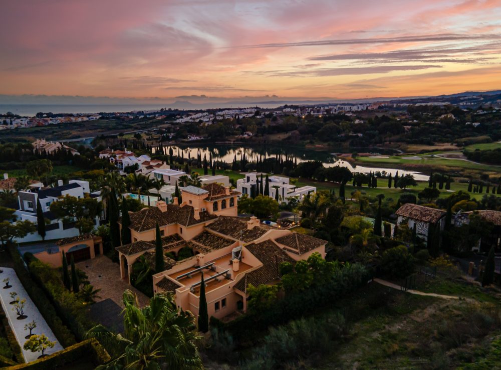
<svg viewBox="0 0 501 370"><path fill-rule="evenodd" d="M89 281L95 289L101 289L99 292L100 298L97 298L96 301L99 302L111 298L120 307L124 307L123 292L125 289L130 289L136 293L141 307L148 304L149 298L130 285L127 280L122 280L120 277L120 265L114 263L107 256L96 255L94 259L75 263L75 266L89 276Z"/></svg>

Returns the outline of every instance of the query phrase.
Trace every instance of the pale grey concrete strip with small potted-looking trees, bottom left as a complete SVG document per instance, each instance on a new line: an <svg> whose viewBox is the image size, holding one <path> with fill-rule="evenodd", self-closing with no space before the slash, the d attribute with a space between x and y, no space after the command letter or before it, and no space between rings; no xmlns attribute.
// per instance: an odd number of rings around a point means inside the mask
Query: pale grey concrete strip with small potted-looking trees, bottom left
<svg viewBox="0 0 501 370"><path fill-rule="evenodd" d="M30 296L23 287L23 284L21 284L16 271L14 271L13 268L8 267L0 267L0 269L4 270L4 272L0 273L0 300L2 301L2 307L4 308L4 311L9 319L9 325L11 326L12 331L14 331L16 339L23 350L23 356L25 357L26 362L34 361L42 354L42 352L32 352L30 350L23 349L23 345L28 340L25 336L30 333L30 330L25 330L25 325L33 320L37 323L37 327L33 329L33 334L45 334L50 341L56 342L54 348L48 348L45 351L45 354L51 354L64 349L62 345L59 344L59 341L56 339L56 336L52 332L35 303L33 303L33 300L31 300ZM4 289L5 282L3 282L3 280L7 277L9 277L9 285L12 285L12 287ZM28 317L23 320L17 319L18 315L14 309L14 305L9 303L12 301L10 296L12 291L18 293L18 298L26 299L24 313Z"/></svg>

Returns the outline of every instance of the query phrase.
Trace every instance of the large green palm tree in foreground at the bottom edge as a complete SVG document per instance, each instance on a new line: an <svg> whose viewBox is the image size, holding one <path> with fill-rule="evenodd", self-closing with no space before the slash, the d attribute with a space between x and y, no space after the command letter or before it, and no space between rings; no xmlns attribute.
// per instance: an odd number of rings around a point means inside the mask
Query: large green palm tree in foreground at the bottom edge
<svg viewBox="0 0 501 370"><path fill-rule="evenodd" d="M101 324L86 334L112 348L113 359L98 369L203 368L195 344L200 336L194 316L176 306L171 292L155 294L143 308L139 308L137 297L130 290L125 290L123 301L123 334L111 332Z"/></svg>

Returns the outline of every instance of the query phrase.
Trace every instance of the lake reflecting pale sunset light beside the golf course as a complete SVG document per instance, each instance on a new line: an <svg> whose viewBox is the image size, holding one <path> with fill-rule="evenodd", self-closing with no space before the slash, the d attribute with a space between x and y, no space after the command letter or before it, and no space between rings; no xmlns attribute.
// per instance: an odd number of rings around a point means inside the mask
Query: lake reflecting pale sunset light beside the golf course
<svg viewBox="0 0 501 370"><path fill-rule="evenodd" d="M220 160L226 163L231 163L236 155L236 159L239 160L242 153L247 156L249 161L256 161L259 156L264 158L275 157L277 154L286 155L288 157L293 157L297 159L298 163L308 161L308 160L320 160L324 163L326 167L333 167L336 165L349 168L352 172L364 172L369 173L370 171L381 173L391 173L395 176L398 171L399 175L402 174L413 174L415 179L418 181L427 181L429 176L422 174L420 172L403 170L401 168L380 168L380 167L364 167L359 165L352 165L346 160L336 158L333 153L343 153L347 152L344 148L334 148L329 151L325 150L313 150L301 147L289 147L289 146L278 146L278 145L262 145L262 146L248 146L243 147L239 145L203 145L203 144L193 144L193 145L165 145L163 147L164 153L169 153L169 148L172 147L174 155L177 155L178 151L183 151L184 157L196 158L197 151L200 149L202 158L204 155L209 158L212 154L213 160ZM156 148L153 148L155 151ZM374 152L375 154L394 154L393 149L381 149L381 148L357 148L360 152Z"/></svg>

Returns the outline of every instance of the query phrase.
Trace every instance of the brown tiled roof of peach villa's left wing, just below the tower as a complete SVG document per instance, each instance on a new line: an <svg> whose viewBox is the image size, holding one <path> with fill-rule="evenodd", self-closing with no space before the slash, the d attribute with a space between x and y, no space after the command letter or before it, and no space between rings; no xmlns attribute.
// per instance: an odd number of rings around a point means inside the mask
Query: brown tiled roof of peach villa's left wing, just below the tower
<svg viewBox="0 0 501 370"><path fill-rule="evenodd" d="M159 226L179 223L183 226L191 226L196 223L214 219L217 216L207 211L200 212L200 219L194 218L194 209L191 205L167 204L167 210L162 212L158 207L143 208L130 214L130 227L138 232L151 230Z"/></svg>

